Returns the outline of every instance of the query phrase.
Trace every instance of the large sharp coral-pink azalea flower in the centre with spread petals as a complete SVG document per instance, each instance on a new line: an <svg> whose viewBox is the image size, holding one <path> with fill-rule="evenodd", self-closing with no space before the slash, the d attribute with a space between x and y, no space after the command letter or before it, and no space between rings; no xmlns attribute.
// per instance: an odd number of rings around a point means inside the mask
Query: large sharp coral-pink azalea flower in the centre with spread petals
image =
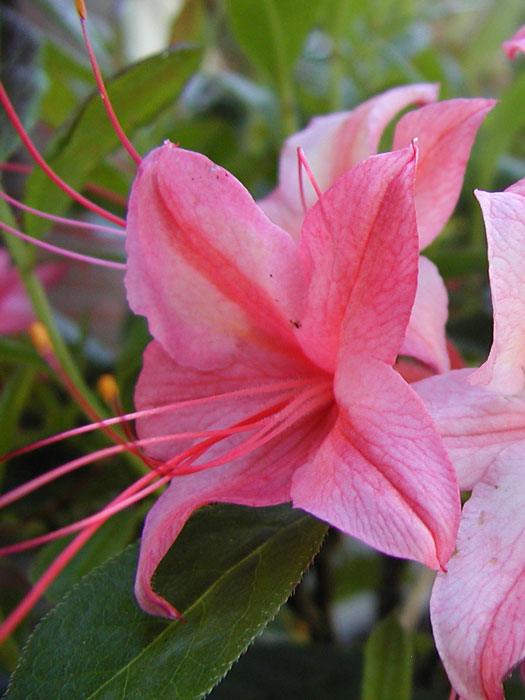
<svg viewBox="0 0 525 700"><path fill-rule="evenodd" d="M392 367L417 285L414 171L413 147L361 161L292 236L204 156L166 144L144 159L126 285L154 340L136 404L186 402L137 423L164 437L148 454L171 477L142 537L146 611L177 615L151 577L210 502L292 501L381 551L448 560L453 470Z"/></svg>

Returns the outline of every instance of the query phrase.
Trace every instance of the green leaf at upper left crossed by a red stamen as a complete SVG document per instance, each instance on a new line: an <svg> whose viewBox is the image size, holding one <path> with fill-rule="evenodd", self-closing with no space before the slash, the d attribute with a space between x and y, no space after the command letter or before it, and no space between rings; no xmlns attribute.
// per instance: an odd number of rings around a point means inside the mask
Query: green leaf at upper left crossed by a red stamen
<svg viewBox="0 0 525 700"><path fill-rule="evenodd" d="M109 80L108 92L124 131L132 133L173 102L199 61L199 50L174 48L140 61ZM83 104L73 123L57 134L46 156L51 167L68 184L79 189L118 145L118 138L96 93ZM27 183L26 201L36 208L60 214L70 199L57 190L44 173L35 170ZM31 235L38 235L45 228L42 221L28 218L27 229Z"/></svg>

